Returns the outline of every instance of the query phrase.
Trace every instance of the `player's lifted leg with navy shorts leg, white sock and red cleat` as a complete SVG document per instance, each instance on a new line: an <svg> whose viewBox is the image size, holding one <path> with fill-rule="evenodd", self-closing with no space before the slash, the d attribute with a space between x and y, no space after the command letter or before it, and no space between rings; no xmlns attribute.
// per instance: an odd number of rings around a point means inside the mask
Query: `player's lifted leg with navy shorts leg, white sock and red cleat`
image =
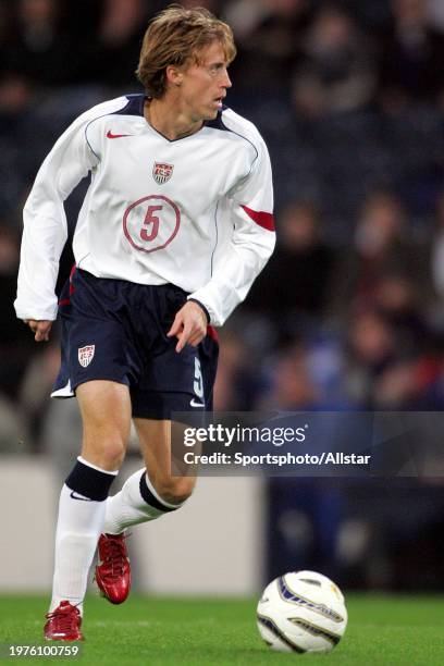
<svg viewBox="0 0 444 666"><path fill-rule="evenodd" d="M209 329L198 348L186 346L176 354L176 342L166 332L185 301L186 293L172 285L140 286L140 307L134 319L134 329L139 331L136 350L144 351L149 362L139 382L133 383L131 397L146 467L107 501L99 554L103 551L108 562L96 569L96 578L113 603L122 603L130 591L125 529L176 510L195 485L190 477L171 476L170 419L173 412L212 409L218 343Z"/></svg>

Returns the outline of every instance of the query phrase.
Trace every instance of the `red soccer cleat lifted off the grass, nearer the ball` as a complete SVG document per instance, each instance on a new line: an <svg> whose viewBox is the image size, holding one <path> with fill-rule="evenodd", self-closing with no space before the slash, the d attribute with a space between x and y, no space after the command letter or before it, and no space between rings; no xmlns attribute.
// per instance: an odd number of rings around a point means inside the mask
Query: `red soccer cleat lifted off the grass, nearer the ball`
<svg viewBox="0 0 444 666"><path fill-rule="evenodd" d="M131 567L125 534L100 534L96 581L102 596L123 604L131 590Z"/></svg>

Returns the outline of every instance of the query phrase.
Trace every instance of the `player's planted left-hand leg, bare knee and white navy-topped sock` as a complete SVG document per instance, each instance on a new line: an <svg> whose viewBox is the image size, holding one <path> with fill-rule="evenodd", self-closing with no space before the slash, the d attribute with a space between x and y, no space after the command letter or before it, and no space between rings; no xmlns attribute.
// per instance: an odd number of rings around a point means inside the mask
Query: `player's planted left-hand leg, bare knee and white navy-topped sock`
<svg viewBox="0 0 444 666"><path fill-rule="evenodd" d="M57 614L62 602L70 602L82 613L88 570L103 527L106 499L130 436L131 398L126 385L89 381L77 387L76 395L84 428L83 446L60 496L47 638L63 638L54 636L66 627L63 613Z"/></svg>

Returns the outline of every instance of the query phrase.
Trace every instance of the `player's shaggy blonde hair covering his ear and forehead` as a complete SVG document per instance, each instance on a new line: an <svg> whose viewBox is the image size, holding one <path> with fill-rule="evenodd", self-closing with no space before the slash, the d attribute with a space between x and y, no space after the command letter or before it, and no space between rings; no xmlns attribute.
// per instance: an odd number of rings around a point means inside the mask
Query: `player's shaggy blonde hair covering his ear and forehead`
<svg viewBox="0 0 444 666"><path fill-rule="evenodd" d="M136 70L147 95L162 97L166 89L166 67L198 63L201 50L213 41L220 41L230 64L236 47L226 23L205 8L186 10L171 4L160 12L145 33Z"/></svg>

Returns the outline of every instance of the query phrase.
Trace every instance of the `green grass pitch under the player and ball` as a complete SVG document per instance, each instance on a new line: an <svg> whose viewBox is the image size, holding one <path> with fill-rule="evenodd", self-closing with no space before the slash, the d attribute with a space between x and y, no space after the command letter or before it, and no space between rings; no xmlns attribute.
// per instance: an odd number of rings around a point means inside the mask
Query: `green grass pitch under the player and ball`
<svg viewBox="0 0 444 666"><path fill-rule="evenodd" d="M293 664L308 666L444 664L444 597L347 594L344 639L326 655L283 654L262 643L255 600L152 599L122 606L88 597L83 654L77 658L12 658L4 664L109 666ZM0 642L41 644L47 599L0 596ZM51 643L46 643L47 645Z"/></svg>

